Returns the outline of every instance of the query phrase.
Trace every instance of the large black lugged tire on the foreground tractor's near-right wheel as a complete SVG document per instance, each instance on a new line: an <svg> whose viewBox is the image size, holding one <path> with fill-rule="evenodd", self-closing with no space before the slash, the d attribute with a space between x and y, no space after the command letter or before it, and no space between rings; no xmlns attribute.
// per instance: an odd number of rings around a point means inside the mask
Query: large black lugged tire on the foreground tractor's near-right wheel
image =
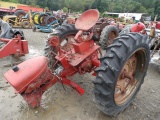
<svg viewBox="0 0 160 120"><path fill-rule="evenodd" d="M116 116L135 98L147 72L150 60L149 42L150 40L145 35L129 33L116 38L113 44L106 48L106 55L100 59L101 65L96 69L97 77L93 81L95 103L103 113ZM137 83L130 96L119 104L115 97L117 81L120 79L119 75L124 65L134 53L137 55L137 64L133 77Z"/></svg>

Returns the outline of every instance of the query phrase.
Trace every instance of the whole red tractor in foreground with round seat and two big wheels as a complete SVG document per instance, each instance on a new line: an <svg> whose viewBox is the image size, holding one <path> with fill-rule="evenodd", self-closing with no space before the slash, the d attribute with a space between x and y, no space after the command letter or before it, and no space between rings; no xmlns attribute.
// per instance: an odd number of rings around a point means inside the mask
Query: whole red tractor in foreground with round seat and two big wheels
<svg viewBox="0 0 160 120"><path fill-rule="evenodd" d="M48 36L46 57L29 59L4 74L30 107L39 107L43 93L55 83L83 95L85 90L69 79L76 73L96 76L95 103L105 114L115 116L129 106L146 75L150 39L139 33L123 34L102 56L93 37L98 18L98 10L91 9L77 19L75 27L58 27Z"/></svg>

